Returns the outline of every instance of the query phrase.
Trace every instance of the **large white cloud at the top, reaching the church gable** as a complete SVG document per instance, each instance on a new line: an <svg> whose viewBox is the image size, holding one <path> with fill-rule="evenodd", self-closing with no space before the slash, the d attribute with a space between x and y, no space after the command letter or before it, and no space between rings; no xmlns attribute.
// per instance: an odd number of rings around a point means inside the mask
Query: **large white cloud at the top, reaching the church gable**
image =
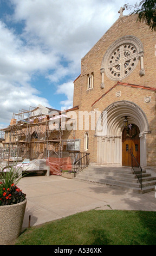
<svg viewBox="0 0 156 256"><path fill-rule="evenodd" d="M12 0L16 5L15 21L25 21L23 36L44 42L55 53L73 61L112 25L118 11L117 1L97 0ZM124 1L122 1L124 2ZM120 3L121 4L121 3ZM75 60L74 58L74 60Z"/></svg>

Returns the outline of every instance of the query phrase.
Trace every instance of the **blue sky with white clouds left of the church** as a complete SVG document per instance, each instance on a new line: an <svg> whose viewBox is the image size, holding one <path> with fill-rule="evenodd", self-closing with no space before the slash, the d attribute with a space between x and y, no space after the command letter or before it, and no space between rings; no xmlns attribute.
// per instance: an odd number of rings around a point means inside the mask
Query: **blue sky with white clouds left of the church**
<svg viewBox="0 0 156 256"><path fill-rule="evenodd" d="M0 129L30 106L73 107L81 58L126 3L136 1L0 0Z"/></svg>

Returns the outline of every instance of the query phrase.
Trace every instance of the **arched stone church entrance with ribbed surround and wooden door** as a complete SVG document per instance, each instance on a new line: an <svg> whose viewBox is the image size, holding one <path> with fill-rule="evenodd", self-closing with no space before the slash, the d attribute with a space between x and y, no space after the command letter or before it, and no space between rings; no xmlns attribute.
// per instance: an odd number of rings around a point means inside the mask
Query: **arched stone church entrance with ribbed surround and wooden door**
<svg viewBox="0 0 156 256"><path fill-rule="evenodd" d="M106 114L103 115L103 112ZM128 145L128 151L126 152L129 154L129 149L132 150L133 148L133 151L135 151L138 157L138 162L140 162L141 166L145 167L147 162L146 134L150 133L150 129L144 111L134 102L123 100L113 102L105 108L103 112L96 124L95 130L95 137L97 137L97 163L104 165L111 164L114 166L131 166L129 162L126 162L127 160L123 162L122 159L124 158L122 155L127 154L122 152L122 148L126 150L126 145ZM123 117L128 117L128 124L132 124L134 127L134 130L129 131L129 135L124 131ZM98 127L100 126L104 127L104 133L98 131ZM137 135L136 137L134 136L134 138L138 139L138 141L132 138L135 129L137 129ZM127 138L123 137L125 133ZM131 139L128 140L128 136ZM140 156L137 155L139 153ZM131 159L131 157L129 157L129 159Z"/></svg>

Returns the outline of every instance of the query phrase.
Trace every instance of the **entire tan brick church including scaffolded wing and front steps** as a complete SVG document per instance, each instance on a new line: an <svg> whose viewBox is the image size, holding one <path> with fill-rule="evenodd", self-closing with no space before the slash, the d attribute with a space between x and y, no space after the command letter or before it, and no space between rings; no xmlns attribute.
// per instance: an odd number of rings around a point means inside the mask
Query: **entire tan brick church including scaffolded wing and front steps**
<svg viewBox="0 0 156 256"><path fill-rule="evenodd" d="M70 166L74 178L155 189L156 33L123 11L82 58L73 108L39 104L13 113L0 130L2 162L42 160L50 175Z"/></svg>

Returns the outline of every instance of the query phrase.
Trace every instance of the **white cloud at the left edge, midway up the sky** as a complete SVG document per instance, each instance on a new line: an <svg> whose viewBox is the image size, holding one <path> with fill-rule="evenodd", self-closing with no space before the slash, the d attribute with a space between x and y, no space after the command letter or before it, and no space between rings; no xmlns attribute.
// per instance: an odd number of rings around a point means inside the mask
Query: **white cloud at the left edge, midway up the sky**
<svg viewBox="0 0 156 256"><path fill-rule="evenodd" d="M53 52L43 52L40 46L24 45L22 40L0 22L1 75L11 81L25 83L37 70L54 68L59 58Z"/></svg>

